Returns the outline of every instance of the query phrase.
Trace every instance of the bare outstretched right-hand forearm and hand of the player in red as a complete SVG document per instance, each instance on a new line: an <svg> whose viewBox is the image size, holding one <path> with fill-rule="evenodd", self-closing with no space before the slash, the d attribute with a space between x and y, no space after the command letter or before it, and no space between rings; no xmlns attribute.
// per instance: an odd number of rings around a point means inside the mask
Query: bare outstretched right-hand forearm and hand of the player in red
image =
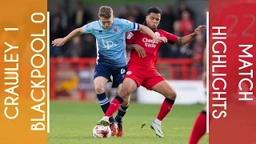
<svg viewBox="0 0 256 144"><path fill-rule="evenodd" d="M206 26L198 26L198 28L194 30L194 33L186 35L182 38L178 38L178 41L175 43L178 45L186 45L188 42L191 42L196 36L198 36L198 34L201 34L202 30L205 29Z"/></svg>

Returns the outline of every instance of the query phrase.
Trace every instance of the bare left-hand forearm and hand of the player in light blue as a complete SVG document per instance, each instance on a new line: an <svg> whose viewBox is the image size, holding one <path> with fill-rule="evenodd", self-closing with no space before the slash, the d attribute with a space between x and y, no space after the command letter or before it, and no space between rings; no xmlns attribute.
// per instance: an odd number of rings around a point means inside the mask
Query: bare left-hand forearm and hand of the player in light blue
<svg viewBox="0 0 256 144"><path fill-rule="evenodd" d="M74 38L75 36L83 34L83 27L77 28L70 32L66 37L64 38L57 38L54 39L52 42L53 46L63 46L66 42L68 42L70 39Z"/></svg>

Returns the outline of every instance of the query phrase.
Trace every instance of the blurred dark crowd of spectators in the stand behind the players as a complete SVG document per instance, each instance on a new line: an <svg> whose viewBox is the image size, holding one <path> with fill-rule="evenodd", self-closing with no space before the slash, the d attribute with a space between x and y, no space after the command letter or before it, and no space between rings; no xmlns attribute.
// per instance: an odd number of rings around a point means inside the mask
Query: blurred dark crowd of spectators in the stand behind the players
<svg viewBox="0 0 256 144"><path fill-rule="evenodd" d="M192 1L192 0L190 0ZM100 5L99 5L100 6ZM98 6L98 7L99 7ZM152 4L151 6L154 6ZM114 10L117 18L126 18L131 22L143 23L145 21L146 9L141 4L122 4L118 13ZM174 7L176 9L174 10ZM188 2L180 1L178 6L166 3L162 8L162 19L158 28L166 30L179 37L190 34L198 25L206 25L206 6L201 6L201 14L194 12ZM96 10L97 11L97 10ZM55 7L50 13L50 40L62 38L77 27L84 26L88 22L98 20L97 14L88 9L86 2L77 2L76 8L70 14L63 9L63 4ZM206 30L193 42L185 46L170 44L162 45L159 51L160 58L202 58L206 46ZM96 42L94 36L85 34L74 38L62 47L50 47L51 57L67 58L91 58L96 56Z"/></svg>

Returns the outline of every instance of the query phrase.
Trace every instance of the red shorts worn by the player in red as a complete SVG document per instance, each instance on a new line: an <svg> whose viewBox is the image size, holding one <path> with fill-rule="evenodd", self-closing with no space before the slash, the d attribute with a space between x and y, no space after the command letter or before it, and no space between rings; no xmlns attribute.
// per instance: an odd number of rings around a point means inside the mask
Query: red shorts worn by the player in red
<svg viewBox="0 0 256 144"><path fill-rule="evenodd" d="M138 87L144 86L147 90L151 90L154 85L166 80L157 70L142 70L131 66L128 67L125 78L133 79Z"/></svg>

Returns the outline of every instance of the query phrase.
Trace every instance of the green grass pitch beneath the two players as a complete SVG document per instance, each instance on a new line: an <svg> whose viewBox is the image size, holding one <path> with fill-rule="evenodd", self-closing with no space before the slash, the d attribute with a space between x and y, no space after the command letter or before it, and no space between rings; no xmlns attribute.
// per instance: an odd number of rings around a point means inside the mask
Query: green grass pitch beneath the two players
<svg viewBox="0 0 256 144"><path fill-rule="evenodd" d="M123 118L122 138L92 138L92 129L102 118L98 103L50 102L50 144L186 144L194 119L204 106L174 106L162 122L164 138L158 138L150 123L158 114L160 105L131 103ZM141 128L142 123L146 126ZM200 144L208 143L206 134Z"/></svg>

